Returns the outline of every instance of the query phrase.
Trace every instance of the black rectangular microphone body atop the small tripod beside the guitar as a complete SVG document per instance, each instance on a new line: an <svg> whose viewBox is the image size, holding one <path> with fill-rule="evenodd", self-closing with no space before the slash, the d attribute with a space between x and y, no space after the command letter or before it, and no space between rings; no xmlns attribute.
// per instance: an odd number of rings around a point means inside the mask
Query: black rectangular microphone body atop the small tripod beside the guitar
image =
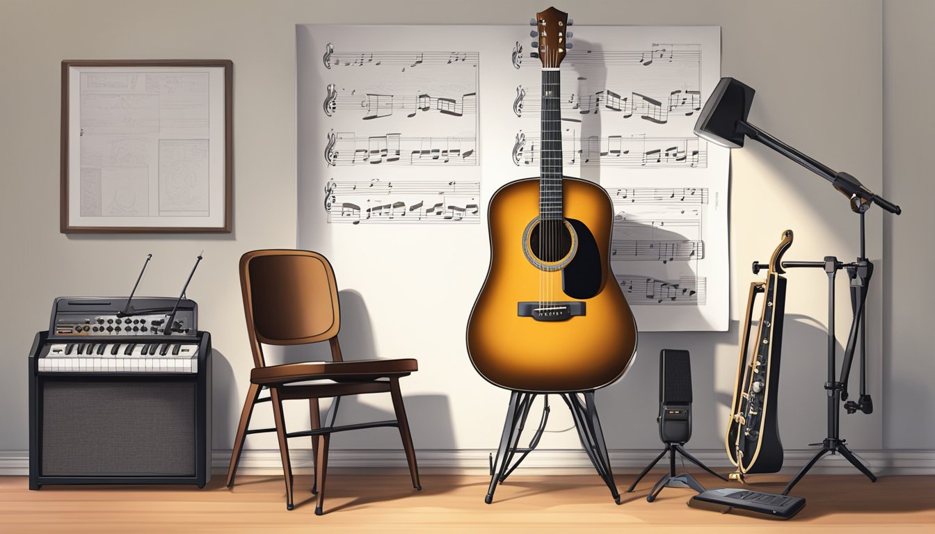
<svg viewBox="0 0 935 534"><path fill-rule="evenodd" d="M684 443L692 436L692 367L688 351L659 353L659 438Z"/></svg>

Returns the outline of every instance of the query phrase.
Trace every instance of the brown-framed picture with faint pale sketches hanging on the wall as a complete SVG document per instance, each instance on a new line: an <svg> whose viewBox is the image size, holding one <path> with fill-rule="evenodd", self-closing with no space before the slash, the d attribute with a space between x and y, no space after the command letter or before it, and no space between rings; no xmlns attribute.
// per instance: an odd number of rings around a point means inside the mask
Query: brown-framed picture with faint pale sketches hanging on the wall
<svg viewBox="0 0 935 534"><path fill-rule="evenodd" d="M229 233L229 60L62 62L63 233Z"/></svg>

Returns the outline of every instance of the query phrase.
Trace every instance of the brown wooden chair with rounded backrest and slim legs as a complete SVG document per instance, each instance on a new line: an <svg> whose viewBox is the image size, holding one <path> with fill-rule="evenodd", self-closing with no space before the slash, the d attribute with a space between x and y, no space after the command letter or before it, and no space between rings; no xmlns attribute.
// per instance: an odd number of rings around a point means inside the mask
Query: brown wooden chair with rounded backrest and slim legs
<svg viewBox="0 0 935 534"><path fill-rule="evenodd" d="M374 426L396 426L399 428L399 436L409 461L412 485L416 489L422 489L406 409L403 406L403 397L399 393L399 378L418 370L418 364L412 358L347 362L343 360L338 345L338 285L328 260L322 254L309 251L264 250L245 253L240 258L240 289L243 293L243 309L247 318L247 333L253 351L254 367L247 400L244 402L240 424L237 426L230 467L227 470L227 487L234 485L237 463L247 435L275 431L280 441L282 471L286 483L286 508L292 510L293 475L286 440L310 436L315 456L315 482L311 491L318 494L315 514L321 515L331 434ZM297 345L325 340L331 344L333 361L266 366L261 343ZM309 381L314 382L308 383ZM269 389L269 397L260 398L264 387ZM385 392L389 392L393 398L395 420L335 426L340 397ZM324 426L318 406L318 399L321 397L335 397L329 420ZM309 399L311 429L286 432L282 401L296 398ZM266 401L273 406L276 427L248 430L253 406Z"/></svg>

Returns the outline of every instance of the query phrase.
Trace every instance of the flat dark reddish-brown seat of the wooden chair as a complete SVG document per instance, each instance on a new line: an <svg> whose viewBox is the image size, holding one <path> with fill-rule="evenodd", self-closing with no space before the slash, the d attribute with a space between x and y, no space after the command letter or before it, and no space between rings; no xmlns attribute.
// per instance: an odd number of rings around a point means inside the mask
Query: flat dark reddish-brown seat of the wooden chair
<svg viewBox="0 0 935 534"><path fill-rule="evenodd" d="M352 360L347 362L300 362L253 368L250 373L250 382L270 385L325 379L367 381L381 377L406 376L417 370L419 370L419 364L414 358Z"/></svg>

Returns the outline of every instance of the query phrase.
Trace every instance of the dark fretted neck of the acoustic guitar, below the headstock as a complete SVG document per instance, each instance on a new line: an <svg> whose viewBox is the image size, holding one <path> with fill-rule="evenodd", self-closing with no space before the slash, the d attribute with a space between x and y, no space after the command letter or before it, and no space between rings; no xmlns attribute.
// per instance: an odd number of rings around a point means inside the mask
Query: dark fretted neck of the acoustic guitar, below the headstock
<svg viewBox="0 0 935 534"><path fill-rule="evenodd" d="M542 133L539 137L539 216L564 218L562 195L562 109L558 68L542 69Z"/></svg>

